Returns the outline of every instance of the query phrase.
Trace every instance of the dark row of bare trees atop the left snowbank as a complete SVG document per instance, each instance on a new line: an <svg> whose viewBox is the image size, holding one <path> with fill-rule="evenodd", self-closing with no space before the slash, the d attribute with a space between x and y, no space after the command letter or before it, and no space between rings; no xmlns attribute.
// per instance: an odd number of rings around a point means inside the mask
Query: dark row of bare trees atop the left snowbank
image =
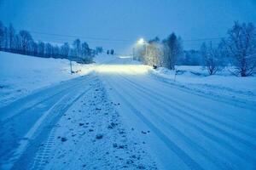
<svg viewBox="0 0 256 170"><path fill-rule="evenodd" d="M81 42L79 39L74 40L71 45L68 42L62 45L36 42L29 31L19 31L16 33L11 24L8 27L3 26L3 23L0 21L0 51L91 63L95 54L102 53L103 49L102 47L91 49L87 42Z"/></svg>

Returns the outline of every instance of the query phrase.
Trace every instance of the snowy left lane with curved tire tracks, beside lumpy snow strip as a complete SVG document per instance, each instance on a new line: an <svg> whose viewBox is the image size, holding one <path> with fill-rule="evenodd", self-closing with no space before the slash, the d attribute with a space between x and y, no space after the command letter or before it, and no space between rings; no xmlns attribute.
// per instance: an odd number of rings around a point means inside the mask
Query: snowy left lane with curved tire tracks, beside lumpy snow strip
<svg viewBox="0 0 256 170"><path fill-rule="evenodd" d="M6 168L17 160L26 164L65 111L87 92L90 80L93 77L79 77L38 90L0 108L0 163Z"/></svg>

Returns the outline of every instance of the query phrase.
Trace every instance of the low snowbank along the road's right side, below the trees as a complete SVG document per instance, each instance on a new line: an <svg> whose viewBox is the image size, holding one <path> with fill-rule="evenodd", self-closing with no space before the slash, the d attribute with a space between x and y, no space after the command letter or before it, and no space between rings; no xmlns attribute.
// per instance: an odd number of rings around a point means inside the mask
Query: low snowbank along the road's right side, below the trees
<svg viewBox="0 0 256 170"><path fill-rule="evenodd" d="M229 69L208 76L201 66L177 66L177 73L166 68L151 71L154 78L174 83L191 91L210 94L212 97L236 100L251 105L256 104L256 77L236 77Z"/></svg>

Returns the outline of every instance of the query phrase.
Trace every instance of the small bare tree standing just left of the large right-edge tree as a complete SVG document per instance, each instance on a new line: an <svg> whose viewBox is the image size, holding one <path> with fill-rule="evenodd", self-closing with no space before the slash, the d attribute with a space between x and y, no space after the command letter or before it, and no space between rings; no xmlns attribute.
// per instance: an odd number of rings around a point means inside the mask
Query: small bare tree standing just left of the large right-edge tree
<svg viewBox="0 0 256 170"><path fill-rule="evenodd" d="M220 71L223 68L220 46L213 48L212 42L208 45L204 42L201 45L201 56L209 75L214 75L217 71Z"/></svg>

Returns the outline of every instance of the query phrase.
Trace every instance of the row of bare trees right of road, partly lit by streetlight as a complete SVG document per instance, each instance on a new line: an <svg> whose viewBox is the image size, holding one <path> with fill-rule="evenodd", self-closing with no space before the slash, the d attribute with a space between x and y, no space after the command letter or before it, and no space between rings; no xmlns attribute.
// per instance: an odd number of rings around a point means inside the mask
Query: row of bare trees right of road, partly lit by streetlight
<svg viewBox="0 0 256 170"><path fill-rule="evenodd" d="M203 42L199 51L183 50L183 41L172 33L160 41L158 37L137 48L146 65L159 65L174 70L177 64L202 65L209 75L230 66L236 76L247 77L256 72L256 29L252 23L235 22L218 45ZM194 56L194 57L193 57Z"/></svg>

